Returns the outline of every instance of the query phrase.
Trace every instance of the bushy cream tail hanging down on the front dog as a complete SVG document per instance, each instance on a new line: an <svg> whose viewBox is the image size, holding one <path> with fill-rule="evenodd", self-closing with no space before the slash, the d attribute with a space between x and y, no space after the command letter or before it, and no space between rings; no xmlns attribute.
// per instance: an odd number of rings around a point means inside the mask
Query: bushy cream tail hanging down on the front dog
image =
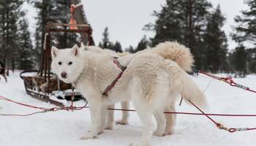
<svg viewBox="0 0 256 146"><path fill-rule="evenodd" d="M206 107L206 96L198 85L175 62L165 59L165 69L170 74L172 92L180 93L184 99L199 107Z"/></svg>

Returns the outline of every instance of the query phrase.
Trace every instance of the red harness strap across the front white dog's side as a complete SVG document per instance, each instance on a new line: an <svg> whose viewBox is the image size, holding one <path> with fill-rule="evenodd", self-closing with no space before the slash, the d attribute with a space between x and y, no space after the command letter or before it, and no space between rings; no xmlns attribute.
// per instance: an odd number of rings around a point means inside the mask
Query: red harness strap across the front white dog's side
<svg viewBox="0 0 256 146"><path fill-rule="evenodd" d="M118 66L119 69L121 69L121 72L118 74L116 79L113 80L113 82L110 85L108 85L108 87L105 89L104 93L102 93L102 95L104 95L104 96L108 96L108 92L111 91L111 89L113 87L115 87L118 80L123 76L125 69L127 69L126 66L121 66L121 64L119 63L119 61L117 59L118 58L114 57L113 58L113 63L116 64L116 66Z"/></svg>

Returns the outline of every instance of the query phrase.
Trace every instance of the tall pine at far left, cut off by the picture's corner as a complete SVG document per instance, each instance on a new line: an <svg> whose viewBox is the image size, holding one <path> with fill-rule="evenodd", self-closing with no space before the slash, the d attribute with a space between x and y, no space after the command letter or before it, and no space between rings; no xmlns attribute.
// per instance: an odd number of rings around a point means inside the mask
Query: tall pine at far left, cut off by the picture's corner
<svg viewBox="0 0 256 146"><path fill-rule="evenodd" d="M21 15L23 0L0 1L0 39L1 53L7 69L18 66L18 19Z"/></svg>

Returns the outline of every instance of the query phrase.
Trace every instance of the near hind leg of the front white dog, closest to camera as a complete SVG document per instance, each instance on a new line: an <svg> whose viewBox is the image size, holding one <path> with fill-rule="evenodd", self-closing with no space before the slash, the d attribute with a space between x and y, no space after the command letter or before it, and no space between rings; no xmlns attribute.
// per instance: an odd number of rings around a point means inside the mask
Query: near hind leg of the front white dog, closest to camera
<svg viewBox="0 0 256 146"><path fill-rule="evenodd" d="M132 103L134 104L135 109L137 110L140 117L143 132L140 142L135 142L130 146L148 146L153 134L153 113L150 105L142 103L138 100L141 99L137 99L137 101L135 99L134 101L132 101Z"/></svg>

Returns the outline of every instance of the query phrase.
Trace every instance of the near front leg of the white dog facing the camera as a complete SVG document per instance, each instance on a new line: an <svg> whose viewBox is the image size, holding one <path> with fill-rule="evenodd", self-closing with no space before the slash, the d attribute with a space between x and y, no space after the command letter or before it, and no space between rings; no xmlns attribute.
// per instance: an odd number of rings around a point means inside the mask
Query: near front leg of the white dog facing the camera
<svg viewBox="0 0 256 146"><path fill-rule="evenodd" d="M102 105L97 104L96 102L89 103L91 113L91 128L90 131L80 139L93 139L100 133Z"/></svg>

